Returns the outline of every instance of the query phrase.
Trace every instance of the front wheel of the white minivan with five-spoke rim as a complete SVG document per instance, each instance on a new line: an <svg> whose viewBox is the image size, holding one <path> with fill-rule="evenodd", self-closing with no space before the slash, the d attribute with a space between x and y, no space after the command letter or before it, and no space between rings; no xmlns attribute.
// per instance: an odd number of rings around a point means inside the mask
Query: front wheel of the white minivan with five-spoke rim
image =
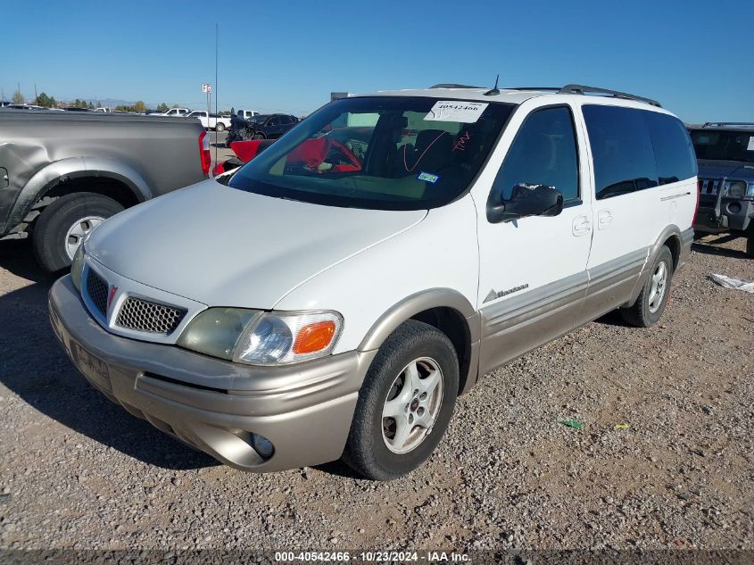
<svg viewBox="0 0 754 565"><path fill-rule="evenodd" d="M416 367L418 373L413 373L410 367ZM440 372L436 386L425 385L431 382L432 375L437 375L437 370ZM419 378L413 379L414 386L405 388L402 385L410 374ZM435 451L448 427L458 384L459 362L451 340L423 322L403 323L379 348L364 378L345 445L344 462L374 480L398 478L416 469ZM422 386L427 386L427 394ZM388 400L394 401L390 408ZM402 435L404 442L399 440L399 419L384 415L384 410L396 408L401 411L399 418L405 418L401 429L410 430L410 434ZM413 423L408 424L409 421ZM428 428L421 426L422 421Z"/></svg>

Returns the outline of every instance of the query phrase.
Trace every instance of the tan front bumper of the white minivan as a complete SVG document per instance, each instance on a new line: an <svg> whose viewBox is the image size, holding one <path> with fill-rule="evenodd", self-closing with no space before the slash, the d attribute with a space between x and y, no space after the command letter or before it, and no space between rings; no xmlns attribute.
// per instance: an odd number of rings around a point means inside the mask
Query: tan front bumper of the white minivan
<svg viewBox="0 0 754 565"><path fill-rule="evenodd" d="M127 411L236 469L263 472L334 461L377 352L283 367L213 359L114 336L87 312L70 276L49 293L50 321L87 380ZM274 446L269 459L252 434Z"/></svg>

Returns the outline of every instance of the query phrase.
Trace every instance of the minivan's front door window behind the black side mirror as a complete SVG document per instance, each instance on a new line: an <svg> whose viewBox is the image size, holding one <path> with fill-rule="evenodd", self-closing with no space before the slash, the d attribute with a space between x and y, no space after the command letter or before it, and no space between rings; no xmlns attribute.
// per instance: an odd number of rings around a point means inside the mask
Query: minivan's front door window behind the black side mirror
<svg viewBox="0 0 754 565"><path fill-rule="evenodd" d="M526 118L494 180L491 199L508 200L518 184L547 185L566 202L578 199L576 133L567 107L536 110Z"/></svg>

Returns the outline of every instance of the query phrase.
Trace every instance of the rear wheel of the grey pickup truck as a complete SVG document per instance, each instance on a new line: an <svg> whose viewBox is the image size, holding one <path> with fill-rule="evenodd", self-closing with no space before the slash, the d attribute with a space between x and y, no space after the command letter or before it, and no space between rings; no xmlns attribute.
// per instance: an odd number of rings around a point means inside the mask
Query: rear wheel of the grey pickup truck
<svg viewBox="0 0 754 565"><path fill-rule="evenodd" d="M77 238L122 210L122 205L103 195L75 192L61 196L37 219L33 234L37 262L49 272L69 267L70 249L75 249Z"/></svg>

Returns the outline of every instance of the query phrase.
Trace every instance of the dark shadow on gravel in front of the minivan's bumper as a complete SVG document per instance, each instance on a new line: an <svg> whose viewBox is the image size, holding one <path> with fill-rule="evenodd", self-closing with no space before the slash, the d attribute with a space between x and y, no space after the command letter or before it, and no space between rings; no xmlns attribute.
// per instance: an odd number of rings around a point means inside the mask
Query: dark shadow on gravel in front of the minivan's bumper
<svg viewBox="0 0 754 565"><path fill-rule="evenodd" d="M47 290L56 277L38 269L31 255L14 257L4 251L0 248L0 266L37 281L0 296L0 320L4 320L0 324L0 382L4 386L46 417L150 465L198 469L219 464L131 416L90 386L74 369L50 327Z"/></svg>

